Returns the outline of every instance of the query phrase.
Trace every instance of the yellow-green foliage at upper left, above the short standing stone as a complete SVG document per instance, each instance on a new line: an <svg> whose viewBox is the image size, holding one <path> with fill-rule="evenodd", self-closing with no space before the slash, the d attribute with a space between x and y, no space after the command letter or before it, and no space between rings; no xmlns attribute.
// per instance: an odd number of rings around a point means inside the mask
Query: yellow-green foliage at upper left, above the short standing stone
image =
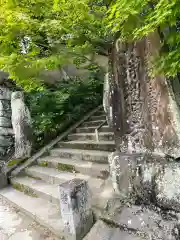
<svg viewBox="0 0 180 240"><path fill-rule="evenodd" d="M105 6L99 3L1 0L0 69L26 91L39 91L44 87L41 71L87 61L85 56L104 39Z"/></svg>

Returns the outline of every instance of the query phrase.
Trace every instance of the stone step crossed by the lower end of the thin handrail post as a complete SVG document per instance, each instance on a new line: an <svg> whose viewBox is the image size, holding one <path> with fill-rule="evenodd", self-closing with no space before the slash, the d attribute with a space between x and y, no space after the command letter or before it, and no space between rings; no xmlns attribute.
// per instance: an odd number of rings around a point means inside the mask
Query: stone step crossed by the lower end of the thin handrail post
<svg viewBox="0 0 180 240"><path fill-rule="evenodd" d="M114 133L112 132L100 132L98 133L99 141L113 141ZM73 133L68 135L68 140L74 141L87 141L96 140L96 134L94 133Z"/></svg>

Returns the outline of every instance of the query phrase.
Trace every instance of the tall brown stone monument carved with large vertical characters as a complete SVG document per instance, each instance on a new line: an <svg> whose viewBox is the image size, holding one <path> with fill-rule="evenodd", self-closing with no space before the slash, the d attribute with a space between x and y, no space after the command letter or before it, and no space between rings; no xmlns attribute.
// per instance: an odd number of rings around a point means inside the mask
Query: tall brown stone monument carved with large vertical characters
<svg viewBox="0 0 180 240"><path fill-rule="evenodd" d="M152 56L160 49L158 33L123 44L117 40L111 56L111 95L115 142L121 151L161 151L180 156L180 111L174 84L149 77ZM117 57L118 56L118 57Z"/></svg>

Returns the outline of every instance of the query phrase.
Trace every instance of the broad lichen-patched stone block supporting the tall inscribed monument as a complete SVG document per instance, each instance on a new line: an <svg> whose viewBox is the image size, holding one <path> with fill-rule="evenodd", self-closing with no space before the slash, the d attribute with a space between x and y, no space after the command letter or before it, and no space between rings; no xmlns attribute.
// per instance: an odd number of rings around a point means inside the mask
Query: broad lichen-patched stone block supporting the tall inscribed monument
<svg viewBox="0 0 180 240"><path fill-rule="evenodd" d="M124 154L109 156L112 185L122 199L180 212L180 163L167 156Z"/></svg>

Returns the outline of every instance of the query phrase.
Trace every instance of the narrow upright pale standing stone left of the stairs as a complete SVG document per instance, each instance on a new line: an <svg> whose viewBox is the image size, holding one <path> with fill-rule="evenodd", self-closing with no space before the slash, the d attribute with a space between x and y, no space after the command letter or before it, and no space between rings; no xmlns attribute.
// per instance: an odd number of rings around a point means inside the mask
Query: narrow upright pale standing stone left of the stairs
<svg viewBox="0 0 180 240"><path fill-rule="evenodd" d="M29 109L22 92L11 96L12 126L15 137L15 158L28 158L32 150L32 128Z"/></svg>

